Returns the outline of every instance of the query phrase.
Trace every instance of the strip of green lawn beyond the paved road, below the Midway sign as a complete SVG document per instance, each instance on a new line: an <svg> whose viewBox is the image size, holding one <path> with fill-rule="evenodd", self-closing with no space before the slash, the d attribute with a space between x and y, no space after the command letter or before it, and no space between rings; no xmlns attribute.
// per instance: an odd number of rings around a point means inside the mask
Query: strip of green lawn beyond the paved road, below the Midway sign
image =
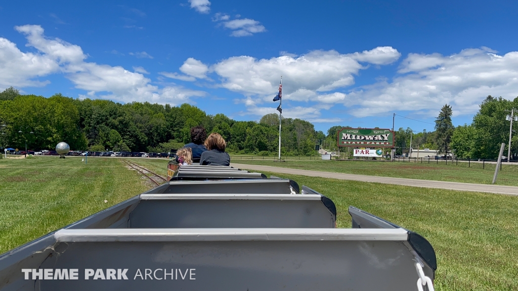
<svg viewBox="0 0 518 291"><path fill-rule="evenodd" d="M368 176L382 176L394 178L409 178L422 180L464 182L477 184L491 184L495 173L494 164L485 164L485 169L481 163L459 162L458 165L448 161L436 164L436 161L423 161L419 163L402 162L371 162L371 161L298 161L288 160L285 163L275 163L273 161L232 159L232 163L263 165L274 167L285 167L303 170L327 171L337 173L362 174ZM518 165L503 165L498 173L496 184L518 186Z"/></svg>

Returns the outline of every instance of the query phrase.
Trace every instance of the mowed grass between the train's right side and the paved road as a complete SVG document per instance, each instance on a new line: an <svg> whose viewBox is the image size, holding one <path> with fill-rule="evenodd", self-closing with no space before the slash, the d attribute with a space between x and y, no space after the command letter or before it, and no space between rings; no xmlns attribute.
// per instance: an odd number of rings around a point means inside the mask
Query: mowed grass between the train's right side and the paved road
<svg viewBox="0 0 518 291"><path fill-rule="evenodd" d="M518 288L518 197L265 172L331 198L337 227L355 206L424 236L437 255L436 290Z"/></svg>

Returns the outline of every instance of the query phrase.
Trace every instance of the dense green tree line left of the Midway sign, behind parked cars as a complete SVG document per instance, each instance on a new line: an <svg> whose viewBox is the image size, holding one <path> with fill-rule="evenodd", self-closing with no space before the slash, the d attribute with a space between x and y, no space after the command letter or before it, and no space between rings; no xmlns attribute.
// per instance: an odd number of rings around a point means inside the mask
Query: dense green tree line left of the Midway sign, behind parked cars
<svg viewBox="0 0 518 291"><path fill-rule="evenodd" d="M231 153L274 155L278 152L279 117L267 114L260 122L236 121L210 115L189 105L127 103L104 99L73 99L0 92L0 146L54 149L65 141L71 150L168 152L190 142L190 128L203 125L227 141ZM283 118L281 153L314 155L315 140L324 136L313 124Z"/></svg>

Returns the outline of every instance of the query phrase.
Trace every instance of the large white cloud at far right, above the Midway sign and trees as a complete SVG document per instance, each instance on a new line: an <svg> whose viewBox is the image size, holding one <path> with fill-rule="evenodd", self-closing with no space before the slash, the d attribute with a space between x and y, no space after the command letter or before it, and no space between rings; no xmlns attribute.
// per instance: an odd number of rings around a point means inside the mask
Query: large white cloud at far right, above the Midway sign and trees
<svg viewBox="0 0 518 291"><path fill-rule="evenodd" d="M488 48L457 54L409 54L392 82L380 81L347 94L356 117L401 107L436 116L444 104L455 114L472 114L487 95L518 96L518 52L498 55ZM354 103L351 100L356 100Z"/></svg>

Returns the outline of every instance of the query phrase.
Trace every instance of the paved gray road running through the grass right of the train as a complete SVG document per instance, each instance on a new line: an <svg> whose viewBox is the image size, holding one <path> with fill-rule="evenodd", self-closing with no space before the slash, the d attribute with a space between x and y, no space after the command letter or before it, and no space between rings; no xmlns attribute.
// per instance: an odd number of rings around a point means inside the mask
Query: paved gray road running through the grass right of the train
<svg viewBox="0 0 518 291"><path fill-rule="evenodd" d="M518 187L515 187L515 186L501 186L501 185L471 184L471 183L429 181L429 180L417 180L417 179L405 179L405 178L365 176L365 175L356 175L356 174L300 170L300 169L290 169L290 168L261 166L261 165L246 165L246 164L236 164L236 163L232 163L231 166L240 168L240 169L250 169L250 170L254 170L254 171L268 171L268 172L303 175L303 176L310 176L310 177L332 178L332 179L338 179L338 180L353 180L353 181L374 182L374 183L404 185L404 186L413 186L413 187L439 188L439 189L448 189L448 190L518 195Z"/></svg>

